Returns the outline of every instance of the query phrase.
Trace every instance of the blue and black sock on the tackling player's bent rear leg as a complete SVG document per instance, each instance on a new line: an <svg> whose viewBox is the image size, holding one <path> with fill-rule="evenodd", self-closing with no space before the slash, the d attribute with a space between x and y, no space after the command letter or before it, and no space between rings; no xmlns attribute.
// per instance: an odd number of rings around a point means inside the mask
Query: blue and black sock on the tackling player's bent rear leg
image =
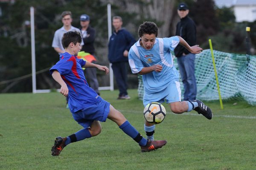
<svg viewBox="0 0 256 170"><path fill-rule="evenodd" d="M81 129L77 131L75 134L72 134L70 136L67 136L67 140L65 142L66 145L72 143L72 142L77 142L84 140L86 138L90 138L92 135L90 134L89 130L87 128Z"/></svg>

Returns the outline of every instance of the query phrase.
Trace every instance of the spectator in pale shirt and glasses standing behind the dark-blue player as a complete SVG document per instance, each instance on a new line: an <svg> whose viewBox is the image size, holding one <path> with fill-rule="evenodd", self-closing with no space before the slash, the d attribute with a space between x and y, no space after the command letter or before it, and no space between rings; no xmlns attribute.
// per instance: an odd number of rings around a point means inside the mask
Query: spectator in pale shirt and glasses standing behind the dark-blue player
<svg viewBox="0 0 256 170"><path fill-rule="evenodd" d="M80 31L79 28L71 26L72 23L72 13L70 11L64 11L61 14L61 21L63 23L63 26L59 28L57 31L54 33L53 41L52 41L52 47L58 54L64 53L64 47L61 44L61 38L64 33L68 31ZM81 45L84 45L84 42L81 42ZM67 100L67 105L66 107L68 108L68 96L66 96Z"/></svg>

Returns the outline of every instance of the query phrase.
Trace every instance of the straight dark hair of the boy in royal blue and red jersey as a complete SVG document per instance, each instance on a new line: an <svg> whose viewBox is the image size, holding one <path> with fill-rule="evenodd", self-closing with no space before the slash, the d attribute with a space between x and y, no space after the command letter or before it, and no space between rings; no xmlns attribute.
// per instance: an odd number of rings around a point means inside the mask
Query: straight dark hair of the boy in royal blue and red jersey
<svg viewBox="0 0 256 170"><path fill-rule="evenodd" d="M61 44L63 48L67 48L71 42L73 42L75 45L77 42L82 42L81 33L79 31L68 31L63 34L63 37L61 38Z"/></svg>

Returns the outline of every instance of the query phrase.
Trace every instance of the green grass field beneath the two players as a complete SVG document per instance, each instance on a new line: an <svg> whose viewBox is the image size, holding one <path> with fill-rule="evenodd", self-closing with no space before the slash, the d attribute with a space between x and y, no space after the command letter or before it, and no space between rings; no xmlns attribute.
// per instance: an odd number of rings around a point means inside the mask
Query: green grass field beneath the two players
<svg viewBox="0 0 256 170"><path fill-rule="evenodd" d="M117 91L102 97L121 111L143 136L143 104L137 90L130 100L116 100ZM233 103L237 103L233 105ZM212 120L195 111L176 115L167 110L156 125L163 148L141 153L140 147L110 120L98 136L75 142L51 156L56 136L81 129L65 108L61 94L0 94L0 169L3 170L255 170L256 107L246 102L206 102Z"/></svg>

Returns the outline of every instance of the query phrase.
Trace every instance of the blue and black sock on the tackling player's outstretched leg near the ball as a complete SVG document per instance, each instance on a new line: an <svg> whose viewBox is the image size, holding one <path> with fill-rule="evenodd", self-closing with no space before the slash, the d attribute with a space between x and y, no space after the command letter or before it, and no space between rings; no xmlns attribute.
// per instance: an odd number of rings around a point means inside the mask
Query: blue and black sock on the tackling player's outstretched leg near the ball
<svg viewBox="0 0 256 170"><path fill-rule="evenodd" d="M128 120L119 126L119 128L137 143L139 143L140 146L145 146L147 144L148 140L143 138L143 136L141 136L141 134L130 124L130 122L128 122Z"/></svg>

